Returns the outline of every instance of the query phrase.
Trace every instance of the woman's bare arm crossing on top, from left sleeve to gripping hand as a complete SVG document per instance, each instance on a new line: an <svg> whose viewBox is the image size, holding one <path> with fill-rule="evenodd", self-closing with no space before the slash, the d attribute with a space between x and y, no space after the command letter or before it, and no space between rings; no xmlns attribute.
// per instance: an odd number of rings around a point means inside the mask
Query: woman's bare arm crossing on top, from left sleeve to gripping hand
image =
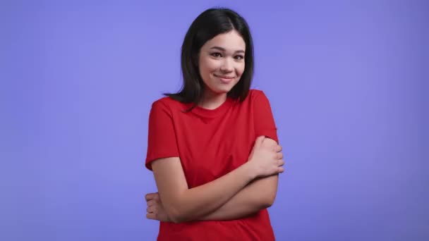
<svg viewBox="0 0 429 241"><path fill-rule="evenodd" d="M219 209L255 178L283 171L279 150L262 146L265 137L258 137L251 159L234 171L205 185L188 188L179 157L152 162L159 197L171 221L192 221Z"/></svg>

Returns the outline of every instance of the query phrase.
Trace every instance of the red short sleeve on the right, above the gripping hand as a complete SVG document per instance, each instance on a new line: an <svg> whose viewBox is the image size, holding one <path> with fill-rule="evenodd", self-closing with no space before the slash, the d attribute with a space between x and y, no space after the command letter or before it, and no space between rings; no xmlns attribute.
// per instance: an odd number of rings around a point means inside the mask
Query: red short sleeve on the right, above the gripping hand
<svg viewBox="0 0 429 241"><path fill-rule="evenodd" d="M268 101L264 92L255 90L255 98L253 99L253 114L255 120L255 135L265 135L279 143L277 137L277 128L272 116L270 101Z"/></svg>

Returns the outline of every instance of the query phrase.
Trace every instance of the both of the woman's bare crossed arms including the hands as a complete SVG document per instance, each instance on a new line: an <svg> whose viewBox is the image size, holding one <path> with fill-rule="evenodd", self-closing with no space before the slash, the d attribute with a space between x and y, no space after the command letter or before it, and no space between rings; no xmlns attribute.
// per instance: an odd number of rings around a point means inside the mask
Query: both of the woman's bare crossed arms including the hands
<svg viewBox="0 0 429 241"><path fill-rule="evenodd" d="M274 203L282 149L258 137L249 161L205 185L188 188L179 157L152 162L158 193L147 194L147 218L185 221L231 220L255 214ZM273 154L275 153L275 155Z"/></svg>

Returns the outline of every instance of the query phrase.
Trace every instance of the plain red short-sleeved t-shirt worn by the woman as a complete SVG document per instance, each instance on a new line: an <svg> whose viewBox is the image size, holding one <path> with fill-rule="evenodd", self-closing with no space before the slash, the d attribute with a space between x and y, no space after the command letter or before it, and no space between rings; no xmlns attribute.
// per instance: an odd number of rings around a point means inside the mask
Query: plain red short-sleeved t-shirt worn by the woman
<svg viewBox="0 0 429 241"><path fill-rule="evenodd" d="M217 109L183 104L164 97L152 104L146 167L151 161L179 156L188 187L222 177L246 163L256 137L278 142L265 94L250 89L243 101L227 98ZM267 209L231 221L191 221L159 225L158 240L274 240Z"/></svg>

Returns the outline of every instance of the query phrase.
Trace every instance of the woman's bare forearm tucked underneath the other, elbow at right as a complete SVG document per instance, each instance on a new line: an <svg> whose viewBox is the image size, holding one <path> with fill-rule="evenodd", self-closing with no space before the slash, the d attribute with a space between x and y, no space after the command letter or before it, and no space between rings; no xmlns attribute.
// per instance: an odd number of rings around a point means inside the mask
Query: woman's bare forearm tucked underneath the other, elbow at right
<svg viewBox="0 0 429 241"><path fill-rule="evenodd" d="M255 214L272 205L277 192L278 180L279 175L254 180L219 209L198 220L233 220Z"/></svg>

